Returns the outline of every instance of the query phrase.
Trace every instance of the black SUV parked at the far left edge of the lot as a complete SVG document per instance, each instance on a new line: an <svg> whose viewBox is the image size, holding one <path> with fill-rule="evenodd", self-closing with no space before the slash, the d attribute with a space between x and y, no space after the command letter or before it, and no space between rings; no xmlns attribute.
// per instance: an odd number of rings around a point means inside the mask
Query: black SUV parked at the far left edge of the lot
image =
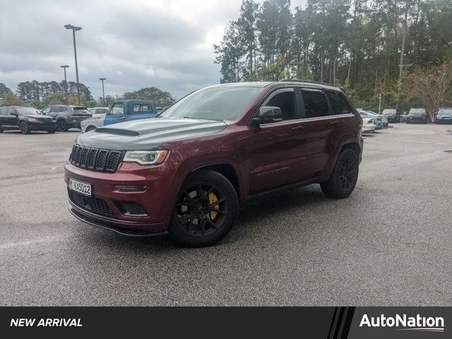
<svg viewBox="0 0 452 339"><path fill-rule="evenodd" d="M55 133L57 124L54 119L39 114L39 111L32 107L1 107L0 133L6 130L17 129L22 134L29 134L31 131Z"/></svg>

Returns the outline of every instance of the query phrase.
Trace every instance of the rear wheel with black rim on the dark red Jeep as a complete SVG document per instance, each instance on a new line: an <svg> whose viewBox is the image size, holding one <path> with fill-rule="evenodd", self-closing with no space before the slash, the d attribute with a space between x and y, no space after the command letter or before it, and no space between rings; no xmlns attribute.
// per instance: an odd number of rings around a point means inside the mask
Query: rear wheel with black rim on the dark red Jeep
<svg viewBox="0 0 452 339"><path fill-rule="evenodd" d="M331 177L322 182L320 187L323 193L331 198L347 198L355 189L358 172L358 155L355 150L346 148L340 153Z"/></svg>

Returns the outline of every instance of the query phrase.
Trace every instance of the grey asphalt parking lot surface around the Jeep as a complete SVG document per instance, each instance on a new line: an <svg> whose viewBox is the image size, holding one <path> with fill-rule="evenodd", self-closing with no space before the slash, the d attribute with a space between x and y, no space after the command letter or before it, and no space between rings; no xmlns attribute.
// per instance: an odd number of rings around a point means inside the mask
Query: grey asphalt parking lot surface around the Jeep
<svg viewBox="0 0 452 339"><path fill-rule="evenodd" d="M452 304L452 126L365 136L359 181L242 208L218 246L97 230L67 209L63 164L78 131L0 134L0 304Z"/></svg>

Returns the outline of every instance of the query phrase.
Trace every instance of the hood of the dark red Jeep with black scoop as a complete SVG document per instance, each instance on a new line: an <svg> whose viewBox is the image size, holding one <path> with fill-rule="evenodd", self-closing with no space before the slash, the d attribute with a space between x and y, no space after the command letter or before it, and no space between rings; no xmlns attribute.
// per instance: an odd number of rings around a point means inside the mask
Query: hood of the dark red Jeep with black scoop
<svg viewBox="0 0 452 339"><path fill-rule="evenodd" d="M206 136L225 129L220 121L153 118L121 122L83 133L78 145L108 150L154 150L163 143Z"/></svg>

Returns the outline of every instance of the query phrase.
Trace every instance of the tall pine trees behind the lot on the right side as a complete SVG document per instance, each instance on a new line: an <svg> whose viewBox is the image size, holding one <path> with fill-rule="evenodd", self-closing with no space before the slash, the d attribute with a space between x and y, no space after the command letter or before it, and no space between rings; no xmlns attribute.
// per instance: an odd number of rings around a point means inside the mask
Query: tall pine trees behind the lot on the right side
<svg viewBox="0 0 452 339"><path fill-rule="evenodd" d="M381 94L383 106L403 109L420 105L406 76L452 55L450 0L308 0L295 11L290 4L242 2L213 46L220 82L321 81L343 86L358 107L375 109Z"/></svg>

